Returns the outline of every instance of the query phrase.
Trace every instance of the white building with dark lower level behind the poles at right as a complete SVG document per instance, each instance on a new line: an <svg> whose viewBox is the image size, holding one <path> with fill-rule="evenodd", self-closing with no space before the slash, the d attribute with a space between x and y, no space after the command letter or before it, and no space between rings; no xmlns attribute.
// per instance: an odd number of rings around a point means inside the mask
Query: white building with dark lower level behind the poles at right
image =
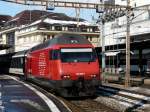
<svg viewBox="0 0 150 112"><path fill-rule="evenodd" d="M131 2L131 74L150 74L150 10L147 10L149 3L150 1L141 0ZM126 5L126 1L120 0L118 4ZM104 25L106 71L112 72L116 67L125 70L126 19L125 12L125 16L115 18Z"/></svg>

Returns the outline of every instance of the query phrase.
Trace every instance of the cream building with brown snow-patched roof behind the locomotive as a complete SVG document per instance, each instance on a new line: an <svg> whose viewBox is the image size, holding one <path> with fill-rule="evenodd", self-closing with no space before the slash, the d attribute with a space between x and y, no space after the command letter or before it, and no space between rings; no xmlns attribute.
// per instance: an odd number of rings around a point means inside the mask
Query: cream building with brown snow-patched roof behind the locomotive
<svg viewBox="0 0 150 112"><path fill-rule="evenodd" d="M11 45L11 48L0 53L27 50L64 32L84 35L95 47L100 46L97 25L83 19L77 21L76 18L62 13L25 10L12 17L1 29L0 44Z"/></svg>

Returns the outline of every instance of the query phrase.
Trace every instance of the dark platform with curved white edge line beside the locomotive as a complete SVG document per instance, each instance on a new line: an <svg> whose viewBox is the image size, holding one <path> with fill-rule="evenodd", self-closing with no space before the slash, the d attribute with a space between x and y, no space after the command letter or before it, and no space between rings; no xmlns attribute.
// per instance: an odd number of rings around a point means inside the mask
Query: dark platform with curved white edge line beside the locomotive
<svg viewBox="0 0 150 112"><path fill-rule="evenodd" d="M16 77L0 75L0 112L67 112L52 99Z"/></svg>

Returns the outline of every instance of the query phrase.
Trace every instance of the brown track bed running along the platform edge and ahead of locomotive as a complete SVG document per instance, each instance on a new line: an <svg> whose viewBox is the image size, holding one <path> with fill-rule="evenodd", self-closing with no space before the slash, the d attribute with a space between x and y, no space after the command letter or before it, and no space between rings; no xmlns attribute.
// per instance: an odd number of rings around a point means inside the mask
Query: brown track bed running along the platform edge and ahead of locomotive
<svg viewBox="0 0 150 112"><path fill-rule="evenodd" d="M114 109L111 109L104 104L101 104L94 100L94 98L63 98L59 95L52 92L47 87L44 87L40 84L34 83L34 82L27 82L30 83L30 85L40 89L41 91L44 90L47 92L47 94L50 94L52 96L51 98L53 101L58 104L59 108L61 107L61 104L65 106L65 108L68 108L66 112L116 112ZM61 104L60 104L61 103ZM64 108L64 107L63 107ZM65 111L63 111L65 112Z"/></svg>

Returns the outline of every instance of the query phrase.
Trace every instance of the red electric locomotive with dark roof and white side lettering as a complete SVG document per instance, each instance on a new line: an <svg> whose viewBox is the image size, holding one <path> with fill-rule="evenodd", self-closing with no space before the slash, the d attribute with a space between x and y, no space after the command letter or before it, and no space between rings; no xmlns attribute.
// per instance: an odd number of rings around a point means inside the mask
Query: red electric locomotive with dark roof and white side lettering
<svg viewBox="0 0 150 112"><path fill-rule="evenodd" d="M64 97L92 96L100 84L96 52L81 35L56 35L19 56L24 60L20 68L27 79L36 80Z"/></svg>

